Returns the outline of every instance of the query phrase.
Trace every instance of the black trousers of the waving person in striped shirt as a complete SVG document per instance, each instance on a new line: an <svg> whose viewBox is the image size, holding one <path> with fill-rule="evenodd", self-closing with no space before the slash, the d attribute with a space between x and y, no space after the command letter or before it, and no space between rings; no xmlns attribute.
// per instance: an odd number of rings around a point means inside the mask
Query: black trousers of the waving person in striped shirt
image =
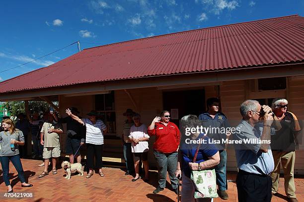
<svg viewBox="0 0 304 202"><path fill-rule="evenodd" d="M103 153L103 145L93 145L86 144L87 149L87 168L88 169L99 169L102 168L102 153ZM95 166L94 166L94 156L95 156Z"/></svg>

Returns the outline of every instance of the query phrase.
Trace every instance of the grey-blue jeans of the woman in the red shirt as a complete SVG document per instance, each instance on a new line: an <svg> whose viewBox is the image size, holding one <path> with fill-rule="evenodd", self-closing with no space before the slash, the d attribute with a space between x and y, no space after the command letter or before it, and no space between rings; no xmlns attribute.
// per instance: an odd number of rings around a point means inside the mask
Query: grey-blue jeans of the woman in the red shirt
<svg viewBox="0 0 304 202"><path fill-rule="evenodd" d="M177 177L175 171L177 168L177 152L162 153L154 150L158 169L158 186L164 188L166 186L167 170L171 181L172 189L177 188Z"/></svg>

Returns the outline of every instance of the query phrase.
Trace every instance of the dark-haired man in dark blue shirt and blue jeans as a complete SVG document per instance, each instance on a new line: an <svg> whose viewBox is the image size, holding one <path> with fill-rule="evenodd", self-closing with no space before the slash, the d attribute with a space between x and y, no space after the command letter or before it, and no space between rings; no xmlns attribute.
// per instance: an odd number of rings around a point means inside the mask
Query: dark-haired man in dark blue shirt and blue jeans
<svg viewBox="0 0 304 202"><path fill-rule="evenodd" d="M218 194L223 200L228 200L228 194L226 190L228 189L227 183L227 152L225 143L223 139L227 139L226 128L230 127L227 117L221 113L220 101L217 98L209 98L207 100L207 112L200 114L199 119L202 120L202 125L205 128L209 128L207 136L213 140L219 140L221 143L217 144L217 149L220 152L220 163L215 166L215 171L217 175L217 184L219 187Z"/></svg>

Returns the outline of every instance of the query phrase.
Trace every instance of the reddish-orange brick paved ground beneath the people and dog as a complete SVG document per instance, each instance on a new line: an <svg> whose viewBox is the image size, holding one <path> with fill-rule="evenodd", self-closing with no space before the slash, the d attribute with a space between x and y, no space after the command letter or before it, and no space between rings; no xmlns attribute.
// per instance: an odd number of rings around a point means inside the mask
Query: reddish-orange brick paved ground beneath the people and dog
<svg viewBox="0 0 304 202"><path fill-rule="evenodd" d="M57 175L51 173L44 178L38 178L43 168L38 167L39 160L22 159L25 175L32 188L21 188L14 167L10 168L10 179L12 180L14 192L32 192L34 199L22 199L24 202L175 202L177 201L174 192L165 189L159 194L152 194L156 187L157 173L150 172L151 181L145 183L143 180L131 182L132 176L125 176L124 171L119 168L104 168L105 177L94 174L91 178L85 176L72 176L71 180L64 178L64 171L60 168ZM0 172L0 175L2 173ZM228 179L235 180L235 173L228 173ZM296 178L297 196L300 202L304 202L304 176ZM169 183L168 183L168 186ZM0 177L0 193L6 192L6 187ZM280 178L279 193L283 194L281 198L273 197L273 202L284 202L284 179ZM227 202L237 202L236 185L233 182L228 183L229 200ZM17 201L3 200L1 202ZM214 200L222 202L220 198Z"/></svg>

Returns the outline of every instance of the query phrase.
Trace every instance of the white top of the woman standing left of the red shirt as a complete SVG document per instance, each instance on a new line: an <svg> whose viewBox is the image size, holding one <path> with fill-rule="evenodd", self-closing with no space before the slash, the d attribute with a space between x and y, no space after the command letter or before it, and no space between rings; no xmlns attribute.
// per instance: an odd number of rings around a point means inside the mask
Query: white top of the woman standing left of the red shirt
<svg viewBox="0 0 304 202"><path fill-rule="evenodd" d="M140 127L136 127L135 125L133 125L130 129L129 138L150 138L150 136L147 134L147 126L145 124L142 124ZM136 145L132 142L131 149L133 153L148 152L149 144L147 141L139 142L139 144Z"/></svg>

